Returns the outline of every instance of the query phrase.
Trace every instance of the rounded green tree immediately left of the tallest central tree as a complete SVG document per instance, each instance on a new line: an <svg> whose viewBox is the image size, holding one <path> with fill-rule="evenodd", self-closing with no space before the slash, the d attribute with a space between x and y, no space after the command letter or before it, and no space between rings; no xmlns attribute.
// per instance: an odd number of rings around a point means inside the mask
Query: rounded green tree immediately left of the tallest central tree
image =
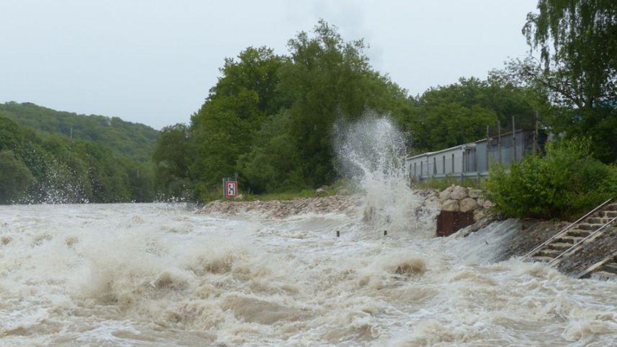
<svg viewBox="0 0 617 347"><path fill-rule="evenodd" d="M202 197L235 172L236 161L249 152L262 123L284 105L276 92L282 62L267 47L249 47L238 60L226 59L223 76L191 116L187 176Z"/></svg>

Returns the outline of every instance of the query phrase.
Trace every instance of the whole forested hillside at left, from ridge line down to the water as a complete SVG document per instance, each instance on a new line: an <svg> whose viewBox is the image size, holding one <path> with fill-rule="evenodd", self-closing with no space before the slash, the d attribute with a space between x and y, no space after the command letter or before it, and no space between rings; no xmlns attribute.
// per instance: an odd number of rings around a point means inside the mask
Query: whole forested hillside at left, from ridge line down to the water
<svg viewBox="0 0 617 347"><path fill-rule="evenodd" d="M0 203L152 201L157 133L118 118L2 104Z"/></svg>

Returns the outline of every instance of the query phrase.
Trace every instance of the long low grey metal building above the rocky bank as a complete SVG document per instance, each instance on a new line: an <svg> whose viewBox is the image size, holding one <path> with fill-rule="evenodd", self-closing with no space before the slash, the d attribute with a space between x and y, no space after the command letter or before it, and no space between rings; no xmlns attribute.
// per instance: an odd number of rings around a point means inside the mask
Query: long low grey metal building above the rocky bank
<svg viewBox="0 0 617 347"><path fill-rule="evenodd" d="M405 159L407 172L413 181L443 177L486 176L493 162L510 164L537 148L533 130L518 129L449 149L414 155Z"/></svg>

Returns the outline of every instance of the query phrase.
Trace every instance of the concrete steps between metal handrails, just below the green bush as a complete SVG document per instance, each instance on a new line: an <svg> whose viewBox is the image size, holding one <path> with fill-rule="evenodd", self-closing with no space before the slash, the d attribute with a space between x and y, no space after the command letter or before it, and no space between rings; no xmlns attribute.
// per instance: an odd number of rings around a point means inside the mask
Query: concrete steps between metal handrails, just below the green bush
<svg viewBox="0 0 617 347"><path fill-rule="evenodd" d="M601 235L616 221L617 202L609 199L531 250L523 259L556 264L563 256L575 253L582 243Z"/></svg>

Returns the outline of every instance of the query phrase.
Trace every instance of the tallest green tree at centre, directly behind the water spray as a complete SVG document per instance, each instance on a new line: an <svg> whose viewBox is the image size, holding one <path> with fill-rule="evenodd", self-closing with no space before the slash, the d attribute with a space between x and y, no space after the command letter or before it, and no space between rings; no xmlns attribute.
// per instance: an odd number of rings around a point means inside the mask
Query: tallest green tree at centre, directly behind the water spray
<svg viewBox="0 0 617 347"><path fill-rule="evenodd" d="M290 131L300 154L297 168L307 186L318 187L335 176L336 120L355 120L366 110L391 112L393 100L405 92L371 70L362 40L344 41L324 20L313 34L301 32L289 40L291 60L281 67L280 89L293 100Z"/></svg>

